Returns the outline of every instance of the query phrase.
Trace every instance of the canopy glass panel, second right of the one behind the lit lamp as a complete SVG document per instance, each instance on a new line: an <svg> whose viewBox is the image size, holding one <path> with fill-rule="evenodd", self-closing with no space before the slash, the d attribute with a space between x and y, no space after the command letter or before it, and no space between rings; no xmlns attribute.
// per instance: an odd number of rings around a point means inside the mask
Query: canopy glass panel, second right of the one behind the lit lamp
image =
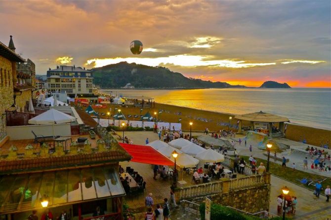
<svg viewBox="0 0 331 220"><path fill-rule="evenodd" d="M82 200L81 174L79 169L69 170L68 202Z"/></svg>

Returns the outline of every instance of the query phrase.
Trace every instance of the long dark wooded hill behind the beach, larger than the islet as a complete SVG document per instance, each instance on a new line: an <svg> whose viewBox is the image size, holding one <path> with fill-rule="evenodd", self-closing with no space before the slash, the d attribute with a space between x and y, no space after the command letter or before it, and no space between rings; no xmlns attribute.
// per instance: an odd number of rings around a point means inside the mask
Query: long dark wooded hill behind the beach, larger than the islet
<svg viewBox="0 0 331 220"><path fill-rule="evenodd" d="M162 66L148 66L136 63L116 63L91 69L94 84L101 88L120 88L130 83L135 88L244 88L224 82L211 82L187 78L179 72L172 72Z"/></svg>

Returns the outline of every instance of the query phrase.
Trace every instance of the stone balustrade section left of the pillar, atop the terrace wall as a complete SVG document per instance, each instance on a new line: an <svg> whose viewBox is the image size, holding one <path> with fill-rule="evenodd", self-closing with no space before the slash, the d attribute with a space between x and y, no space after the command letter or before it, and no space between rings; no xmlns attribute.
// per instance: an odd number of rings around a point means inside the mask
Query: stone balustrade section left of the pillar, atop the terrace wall
<svg viewBox="0 0 331 220"><path fill-rule="evenodd" d="M222 191L222 181L198 184L190 187L181 188L179 190L179 199L193 198L199 196L220 193Z"/></svg>

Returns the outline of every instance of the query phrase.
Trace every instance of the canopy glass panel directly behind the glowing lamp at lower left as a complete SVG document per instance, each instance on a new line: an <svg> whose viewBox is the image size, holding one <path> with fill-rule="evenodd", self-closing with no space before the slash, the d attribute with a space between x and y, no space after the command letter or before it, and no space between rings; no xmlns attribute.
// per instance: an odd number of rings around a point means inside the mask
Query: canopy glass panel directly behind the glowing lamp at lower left
<svg viewBox="0 0 331 220"><path fill-rule="evenodd" d="M36 201L36 207L41 207L41 203L38 202L43 198L43 196L48 197L48 205L52 205L53 196L53 186L54 186L54 172L45 172L42 175L41 188L39 192L38 199Z"/></svg>

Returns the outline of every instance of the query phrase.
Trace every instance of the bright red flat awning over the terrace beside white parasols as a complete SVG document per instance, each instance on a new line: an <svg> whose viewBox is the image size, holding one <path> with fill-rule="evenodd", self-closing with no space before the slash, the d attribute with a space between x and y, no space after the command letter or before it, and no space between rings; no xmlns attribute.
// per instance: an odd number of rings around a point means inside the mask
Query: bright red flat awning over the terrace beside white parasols
<svg viewBox="0 0 331 220"><path fill-rule="evenodd" d="M130 161L156 165L173 165L173 161L151 146L119 143L132 156Z"/></svg>

